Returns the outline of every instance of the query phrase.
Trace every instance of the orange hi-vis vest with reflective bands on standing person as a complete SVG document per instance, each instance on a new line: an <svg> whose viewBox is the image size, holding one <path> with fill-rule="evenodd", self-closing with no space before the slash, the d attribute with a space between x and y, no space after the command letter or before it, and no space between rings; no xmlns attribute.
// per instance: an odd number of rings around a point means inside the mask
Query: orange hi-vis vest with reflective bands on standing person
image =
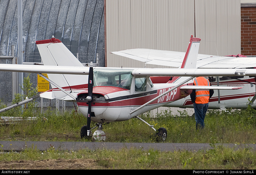
<svg viewBox="0 0 256 175"><path fill-rule="evenodd" d="M196 86L210 86L208 79L204 77L197 77L194 79L194 84ZM210 90L209 89L199 89L196 90L196 104L205 104L209 102Z"/></svg>

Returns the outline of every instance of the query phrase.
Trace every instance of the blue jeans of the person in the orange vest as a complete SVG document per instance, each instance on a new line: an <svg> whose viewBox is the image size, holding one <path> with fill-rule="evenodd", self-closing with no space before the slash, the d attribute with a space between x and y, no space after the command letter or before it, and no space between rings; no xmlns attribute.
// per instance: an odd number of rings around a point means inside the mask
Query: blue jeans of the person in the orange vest
<svg viewBox="0 0 256 175"><path fill-rule="evenodd" d="M196 130L202 129L205 127L205 114L208 109L209 104L196 104L194 103L194 109L195 109L195 120L196 120Z"/></svg>

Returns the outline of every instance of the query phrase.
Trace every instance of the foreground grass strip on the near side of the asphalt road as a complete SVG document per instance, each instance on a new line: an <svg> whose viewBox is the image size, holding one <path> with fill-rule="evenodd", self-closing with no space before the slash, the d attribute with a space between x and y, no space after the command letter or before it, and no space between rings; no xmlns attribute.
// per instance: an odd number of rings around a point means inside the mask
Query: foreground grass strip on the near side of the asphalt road
<svg viewBox="0 0 256 175"><path fill-rule="evenodd" d="M38 151L36 147L22 152L1 152L0 162L49 159L90 159L97 169L255 169L256 152L250 149L234 151L217 146L198 152L120 149L58 151L49 148ZM91 167L92 168L92 167ZM82 167L81 167L82 169Z"/></svg>

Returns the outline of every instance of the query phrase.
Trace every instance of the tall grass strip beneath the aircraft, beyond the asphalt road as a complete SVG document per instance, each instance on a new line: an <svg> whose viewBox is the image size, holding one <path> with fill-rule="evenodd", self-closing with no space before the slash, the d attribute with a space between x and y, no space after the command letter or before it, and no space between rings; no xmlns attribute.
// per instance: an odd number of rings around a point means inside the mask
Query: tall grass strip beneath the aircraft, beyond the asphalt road
<svg viewBox="0 0 256 175"><path fill-rule="evenodd" d="M87 123L83 116L75 118L72 112L56 114L52 109L43 114L35 114L38 118L36 121L1 126L0 140L81 141L80 129ZM186 112L173 116L170 110L166 110L157 114L157 118L151 118L149 114L140 117L154 125L155 129L166 128L167 143L211 143L215 140L217 143L242 144L256 143L255 114L254 109L232 112L209 110L205 128L197 131L195 119L189 117ZM42 121L42 117L48 120ZM95 123L92 122L91 126L95 126ZM106 142L156 142L155 131L136 118L105 124L103 131L107 136Z"/></svg>

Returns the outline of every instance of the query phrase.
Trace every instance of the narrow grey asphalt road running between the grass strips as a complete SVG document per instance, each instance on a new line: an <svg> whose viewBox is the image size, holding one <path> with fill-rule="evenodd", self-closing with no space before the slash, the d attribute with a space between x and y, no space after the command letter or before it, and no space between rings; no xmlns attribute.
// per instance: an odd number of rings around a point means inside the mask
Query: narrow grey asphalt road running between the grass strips
<svg viewBox="0 0 256 175"><path fill-rule="evenodd" d="M25 148L31 148L36 146L40 151L46 151L50 147L54 147L57 150L78 151L81 149L122 149L122 148L138 148L143 150L155 149L159 151L199 151L212 149L209 143L112 143L112 142L32 142L32 141L0 141L3 146L2 151L22 151ZM0 145L0 148L1 148ZM234 148L250 148L256 150L256 144L216 144L223 145L225 147Z"/></svg>

